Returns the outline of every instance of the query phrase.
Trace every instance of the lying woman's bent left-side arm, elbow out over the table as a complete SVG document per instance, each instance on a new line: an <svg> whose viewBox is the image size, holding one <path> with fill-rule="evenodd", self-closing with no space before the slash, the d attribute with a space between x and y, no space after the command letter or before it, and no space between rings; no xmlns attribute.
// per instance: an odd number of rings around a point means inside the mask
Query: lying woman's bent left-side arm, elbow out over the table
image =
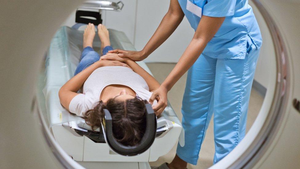
<svg viewBox="0 0 300 169"><path fill-rule="evenodd" d="M79 95L77 91L83 86L86 79L99 67L102 66L127 66L127 64L112 61L112 60L102 60L93 63L91 66L87 67L85 70L82 70L80 73L76 74L73 78L71 78L68 82L66 82L58 92L59 100L61 104L69 110L69 104L71 100Z"/></svg>

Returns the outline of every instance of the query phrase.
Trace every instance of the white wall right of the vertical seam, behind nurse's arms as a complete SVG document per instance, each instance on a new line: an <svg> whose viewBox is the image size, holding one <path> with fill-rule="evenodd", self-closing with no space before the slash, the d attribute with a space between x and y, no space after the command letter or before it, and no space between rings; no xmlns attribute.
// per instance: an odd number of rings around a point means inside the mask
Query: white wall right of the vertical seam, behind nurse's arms
<svg viewBox="0 0 300 169"><path fill-rule="evenodd" d="M168 11L170 1L139 0L137 5L135 47L142 50L164 14ZM177 62L191 41L195 31L191 28L186 17L170 38L154 51L146 62Z"/></svg>

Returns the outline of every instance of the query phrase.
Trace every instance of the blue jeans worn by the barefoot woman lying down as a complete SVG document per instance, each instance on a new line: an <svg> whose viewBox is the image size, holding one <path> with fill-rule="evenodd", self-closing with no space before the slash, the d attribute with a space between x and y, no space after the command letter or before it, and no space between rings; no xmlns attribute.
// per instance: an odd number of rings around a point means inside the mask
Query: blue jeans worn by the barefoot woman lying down
<svg viewBox="0 0 300 169"><path fill-rule="evenodd" d="M112 46L105 46L105 48L102 50L103 55L105 55L109 50L113 50ZM74 76L85 68L91 66L93 63L97 62L99 59L99 54L95 52L92 47L85 47L82 51L80 62L75 70Z"/></svg>

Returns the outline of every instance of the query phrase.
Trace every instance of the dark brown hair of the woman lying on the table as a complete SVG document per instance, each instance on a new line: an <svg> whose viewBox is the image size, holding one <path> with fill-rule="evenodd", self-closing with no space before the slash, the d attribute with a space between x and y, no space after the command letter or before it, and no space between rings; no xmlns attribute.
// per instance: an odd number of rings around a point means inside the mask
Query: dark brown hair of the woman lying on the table
<svg viewBox="0 0 300 169"><path fill-rule="evenodd" d="M119 143L134 146L140 143L146 130L145 103L148 102L139 97L125 101L112 98L106 104L100 101L93 109L85 112L85 123L93 130L101 127L103 109L107 109L112 116L114 137Z"/></svg>

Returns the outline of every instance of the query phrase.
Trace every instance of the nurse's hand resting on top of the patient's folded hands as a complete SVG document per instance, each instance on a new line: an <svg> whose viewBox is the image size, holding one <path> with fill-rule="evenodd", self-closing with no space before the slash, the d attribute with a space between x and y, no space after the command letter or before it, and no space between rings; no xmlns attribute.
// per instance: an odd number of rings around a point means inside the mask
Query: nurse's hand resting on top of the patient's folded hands
<svg viewBox="0 0 300 169"><path fill-rule="evenodd" d="M145 58L147 58L147 55L144 53L144 51L130 51L130 50L120 50L120 49L115 49L115 50L109 50L109 53L117 53L118 56L121 58L130 58L134 61L142 61Z"/></svg>

